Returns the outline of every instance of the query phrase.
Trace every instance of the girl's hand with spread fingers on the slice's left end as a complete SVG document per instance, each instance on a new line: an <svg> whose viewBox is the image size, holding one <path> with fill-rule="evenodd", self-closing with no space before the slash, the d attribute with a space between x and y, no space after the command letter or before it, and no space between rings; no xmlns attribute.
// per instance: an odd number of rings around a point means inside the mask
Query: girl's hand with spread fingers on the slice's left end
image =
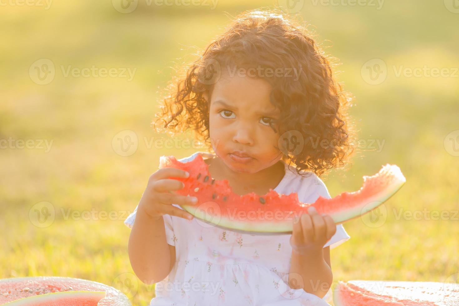
<svg viewBox="0 0 459 306"><path fill-rule="evenodd" d="M191 220L193 215L189 212L172 206L172 204L195 205L197 203L197 198L194 196L176 195L174 193L174 190L184 188L185 184L171 177L188 178L189 175L185 170L172 167L164 167L151 174L138 209L155 220L164 214Z"/></svg>

